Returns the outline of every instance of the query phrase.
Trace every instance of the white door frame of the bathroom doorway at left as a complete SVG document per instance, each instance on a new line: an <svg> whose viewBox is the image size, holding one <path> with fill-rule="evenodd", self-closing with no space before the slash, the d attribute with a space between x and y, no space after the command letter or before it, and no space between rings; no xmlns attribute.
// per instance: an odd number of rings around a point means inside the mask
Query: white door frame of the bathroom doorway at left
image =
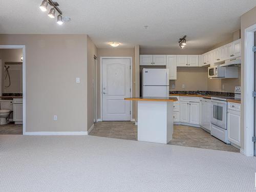
<svg viewBox="0 0 256 192"><path fill-rule="evenodd" d="M0 49L22 49L23 135L26 133L26 50L25 45L0 45Z"/></svg>

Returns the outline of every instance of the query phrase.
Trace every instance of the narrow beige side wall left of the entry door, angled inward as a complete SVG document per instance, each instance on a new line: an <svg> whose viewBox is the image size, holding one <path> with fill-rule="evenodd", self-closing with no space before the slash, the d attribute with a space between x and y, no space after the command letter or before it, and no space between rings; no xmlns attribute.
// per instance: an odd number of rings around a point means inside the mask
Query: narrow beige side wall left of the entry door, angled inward
<svg viewBox="0 0 256 192"><path fill-rule="evenodd" d="M94 123L94 113L95 113L95 96L94 96L94 74L95 74L95 64L94 56L97 57L97 47L94 45L93 41L89 36L87 36L87 129ZM95 119L96 120L96 119Z"/></svg>

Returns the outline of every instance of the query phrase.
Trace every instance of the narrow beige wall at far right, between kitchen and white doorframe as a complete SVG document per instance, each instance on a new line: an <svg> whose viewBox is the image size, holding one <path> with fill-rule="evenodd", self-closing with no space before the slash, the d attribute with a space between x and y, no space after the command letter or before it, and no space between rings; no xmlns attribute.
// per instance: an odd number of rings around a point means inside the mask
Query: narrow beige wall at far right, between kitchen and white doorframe
<svg viewBox="0 0 256 192"><path fill-rule="evenodd" d="M241 148L244 148L244 123L245 123L245 118L244 118L244 114L245 114L245 110L244 110L244 98L245 98L245 93L244 93L244 55L245 55L245 45L244 45L244 41L245 41L245 29L256 24L256 7L254 7L253 9L251 9L250 11L248 11L247 13L243 14L241 16L241 39L242 39L242 65L241 65L241 84L242 84L242 104L241 104Z"/></svg>

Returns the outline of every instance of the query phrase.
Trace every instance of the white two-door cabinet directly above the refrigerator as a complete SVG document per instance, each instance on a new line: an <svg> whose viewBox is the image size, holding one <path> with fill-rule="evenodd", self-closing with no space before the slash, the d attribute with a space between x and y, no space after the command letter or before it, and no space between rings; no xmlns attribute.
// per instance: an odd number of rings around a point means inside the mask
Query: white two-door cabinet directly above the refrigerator
<svg viewBox="0 0 256 192"><path fill-rule="evenodd" d="M140 55L140 66L166 66L166 55Z"/></svg>

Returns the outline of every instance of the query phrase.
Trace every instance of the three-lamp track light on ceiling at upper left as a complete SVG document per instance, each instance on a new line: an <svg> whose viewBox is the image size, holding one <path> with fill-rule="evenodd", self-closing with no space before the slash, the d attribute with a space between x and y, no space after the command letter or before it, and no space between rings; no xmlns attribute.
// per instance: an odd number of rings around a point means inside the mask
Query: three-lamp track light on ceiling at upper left
<svg viewBox="0 0 256 192"><path fill-rule="evenodd" d="M57 11L59 13L57 16L57 24L62 25L63 24L63 20L62 20L62 16L61 16L62 12L58 8L59 4L57 2L53 2L52 0L44 0L44 1L42 1L39 8L41 9L41 11L45 12L45 11L47 11L48 4L50 6L52 6L52 8L50 9L50 12L48 13L48 16L51 18L54 18L55 12Z"/></svg>

